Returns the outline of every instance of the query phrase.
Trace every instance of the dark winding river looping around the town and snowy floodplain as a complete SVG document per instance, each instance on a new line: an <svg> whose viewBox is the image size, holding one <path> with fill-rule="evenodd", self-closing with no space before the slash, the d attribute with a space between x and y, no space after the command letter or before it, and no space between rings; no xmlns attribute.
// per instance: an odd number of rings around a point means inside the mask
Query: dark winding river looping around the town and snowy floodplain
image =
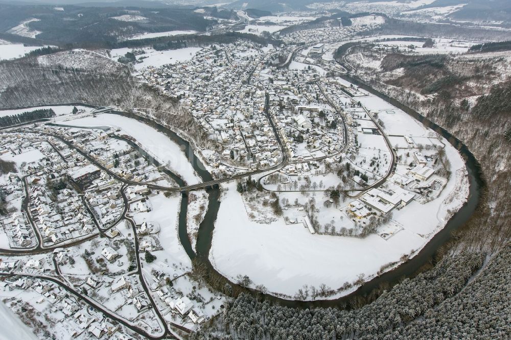
<svg viewBox="0 0 511 340"><path fill-rule="evenodd" d="M460 140L458 140L456 137L452 136L447 130L437 126L436 124L432 123L429 119L426 117L420 115L416 111L403 106L396 100L393 100L391 98L388 98L386 95L374 90L373 88L370 88L364 84L362 84L357 79L354 79L352 77L346 76L343 77L345 80L360 86L361 88L367 90L370 93L373 93L383 100L387 101L388 103L402 109L407 114L411 115L413 118L419 120L421 123L423 123L425 126L439 132L442 134L443 137L445 137L455 148L457 148L460 152L460 154L463 156L463 159L465 160L465 165L467 167L468 171L468 177L470 182L470 189L469 189L469 198L468 201L459 209L448 221L445 228L440 230L429 242L428 244L415 256L413 256L411 259L406 261L405 263L402 263L399 265L396 269L393 269L391 271L388 271L380 276L375 277L374 279L365 282L361 287L359 287L355 292L351 293L350 295L332 299L332 300L315 300L315 301L295 301L295 300L286 300L282 298L277 298L269 294L261 294L259 292L255 292L252 289L247 289L245 287L241 287L238 284L228 280L227 278L224 278L226 282L229 282L231 286L235 287L235 289L243 292L249 292L252 294L257 294L260 297L263 297L266 300L269 300L271 302L276 302L281 305L289 306L289 307L298 307L298 308L308 308L308 307L338 307L341 304L350 301L352 298L356 296L367 296L371 292L373 292L375 289L379 288L381 284L383 283L389 283L390 285L399 282L403 277L410 277L413 276L417 270L421 268L426 263L433 262L436 252L440 247L445 245L451 238L452 232L462 227L471 217L471 215L474 213L478 203L479 203L479 197L480 197L480 189L484 186L484 182L481 178L481 170L480 165L475 159L474 155L468 150L466 145L464 145ZM202 179L202 181L211 181L213 180L213 177L210 173L208 173L199 160L198 157L194 154L194 151L190 145L190 143L187 140L184 140L179 135L177 135L172 130L153 122L151 119L140 117L138 115L134 115L127 112L118 112L118 111L111 111L109 113L113 114L119 114L126 117L134 118L139 120L140 122L143 122L147 125L150 125L151 127L157 129L159 132L164 133L167 135L171 140L179 144L187 156L188 160L192 164L193 168L199 175L199 177ZM90 128L90 127L89 127ZM105 128L105 127L100 127ZM147 155L144 150L141 150L135 143L131 143L132 147L136 147L139 152L143 153L144 155ZM149 155L147 155L149 156ZM152 159L152 157L151 157ZM153 162L155 162L155 165L159 165L156 160L152 159ZM171 172L168 171L169 175L171 175ZM171 177L176 180L178 185L182 186L184 183L182 180L176 176L175 174L172 174ZM188 256L192 260L199 261L208 271L211 271L217 276L221 276L218 271L213 267L211 264L208 255L211 250L212 241L213 241L213 232L215 229L215 222L217 218L217 213L220 208L220 195L221 191L218 185L214 185L212 187L206 188L206 192L208 193L208 205L207 205L207 211L204 215L204 219L201 222L199 226L198 231L198 237L197 237L197 253L194 252L188 232L187 232L187 211L188 211L188 194L186 192L182 192L182 199L181 199L181 206L179 211L179 240L181 242L181 245L183 246L184 250L187 252ZM235 240L233 240L235 241ZM211 277L211 276L210 276ZM340 283L339 283L340 284Z"/></svg>

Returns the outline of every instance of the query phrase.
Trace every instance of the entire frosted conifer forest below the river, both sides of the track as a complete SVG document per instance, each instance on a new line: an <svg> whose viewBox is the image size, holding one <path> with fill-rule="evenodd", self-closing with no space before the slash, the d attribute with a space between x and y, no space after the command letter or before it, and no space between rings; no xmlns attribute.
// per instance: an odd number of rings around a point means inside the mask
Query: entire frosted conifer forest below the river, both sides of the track
<svg viewBox="0 0 511 340"><path fill-rule="evenodd" d="M406 279L375 302L350 311L293 309L242 294L227 306L224 323L231 335L240 339L263 335L274 339L498 338L511 331L506 320L511 312L506 303L511 292L493 285L506 286L511 279L511 268L506 265L511 247L494 256L466 286L485 257L467 252L445 258L431 271ZM357 301L353 303L352 307ZM204 338L201 332L190 337Z"/></svg>

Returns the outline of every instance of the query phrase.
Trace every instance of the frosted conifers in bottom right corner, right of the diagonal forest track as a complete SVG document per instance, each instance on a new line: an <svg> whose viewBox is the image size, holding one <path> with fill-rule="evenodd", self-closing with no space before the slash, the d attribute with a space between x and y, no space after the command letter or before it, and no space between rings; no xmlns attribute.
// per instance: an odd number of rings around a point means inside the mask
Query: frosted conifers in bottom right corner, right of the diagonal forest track
<svg viewBox="0 0 511 340"><path fill-rule="evenodd" d="M506 320L511 315L509 263L511 247L507 246L457 296L427 310L424 319L394 332L394 338L507 338L511 334L511 324Z"/></svg>

